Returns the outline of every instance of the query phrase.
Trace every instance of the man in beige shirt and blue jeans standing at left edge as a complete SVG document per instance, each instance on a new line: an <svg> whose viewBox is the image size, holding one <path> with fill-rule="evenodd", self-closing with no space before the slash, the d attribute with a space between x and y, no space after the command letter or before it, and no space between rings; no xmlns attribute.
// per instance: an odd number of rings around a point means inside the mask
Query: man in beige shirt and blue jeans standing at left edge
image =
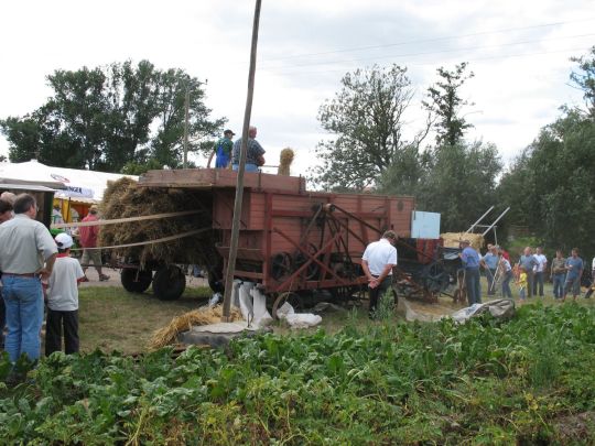
<svg viewBox="0 0 595 446"><path fill-rule="evenodd" d="M0 225L0 271L7 307L4 348L12 363L21 353L40 357L43 323L41 279L54 268L57 248L45 226L35 220L37 204L29 194L14 200L14 218Z"/></svg>

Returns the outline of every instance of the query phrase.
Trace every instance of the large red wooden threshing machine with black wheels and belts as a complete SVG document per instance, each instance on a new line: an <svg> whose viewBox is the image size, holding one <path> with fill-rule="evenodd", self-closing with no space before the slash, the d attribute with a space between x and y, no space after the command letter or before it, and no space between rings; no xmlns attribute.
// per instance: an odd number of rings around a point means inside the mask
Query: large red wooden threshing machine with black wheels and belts
<svg viewBox="0 0 595 446"><path fill-rule="evenodd" d="M183 189L207 210L201 225L212 237L203 247L209 259L203 266L214 291L221 291L227 269L236 181L229 170L197 168L150 171L138 184ZM414 207L411 196L310 192L303 177L246 173L234 278L255 283L273 314L288 300L300 306L314 291L350 300L366 289L360 263L366 246L392 229L401 238L399 281L433 296L448 282L436 258L441 242L409 239ZM171 264L141 271L132 262L122 272L127 290L143 291L151 280L155 294L167 300L178 297L185 284L182 270Z"/></svg>

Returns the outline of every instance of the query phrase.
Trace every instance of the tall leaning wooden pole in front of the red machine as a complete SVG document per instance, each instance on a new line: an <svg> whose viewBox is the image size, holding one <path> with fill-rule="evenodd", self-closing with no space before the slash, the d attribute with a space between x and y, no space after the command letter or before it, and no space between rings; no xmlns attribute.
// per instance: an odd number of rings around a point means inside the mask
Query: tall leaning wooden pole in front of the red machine
<svg viewBox="0 0 595 446"><path fill-rule="evenodd" d="M229 311L231 307L231 292L234 283L234 272L236 270L236 257L238 253L239 224L241 216L241 200L244 198L244 171L246 168L246 156L248 151L248 129L250 127L250 116L252 113L252 97L255 94L255 72L258 43L258 24L260 22L260 3L256 0L255 21L252 24L252 45L250 48L250 70L248 74L248 95L246 98L246 110L244 112L244 127L241 130L241 148L238 165L238 181L236 184L236 200L234 204L234 221L231 224L231 240L229 243L229 258L227 259L227 271L225 274L225 292L223 322L229 322Z"/></svg>

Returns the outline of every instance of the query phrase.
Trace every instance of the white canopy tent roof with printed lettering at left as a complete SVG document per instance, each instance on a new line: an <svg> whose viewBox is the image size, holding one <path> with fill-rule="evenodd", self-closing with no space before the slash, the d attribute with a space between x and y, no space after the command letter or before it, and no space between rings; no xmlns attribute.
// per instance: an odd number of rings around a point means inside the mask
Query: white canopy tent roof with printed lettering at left
<svg viewBox="0 0 595 446"><path fill-rule="evenodd" d="M0 163L0 182L34 184L58 189L57 198L80 198L100 202L108 181L123 176L138 180L138 176L106 172L80 171L76 168L52 167L31 160L24 163Z"/></svg>

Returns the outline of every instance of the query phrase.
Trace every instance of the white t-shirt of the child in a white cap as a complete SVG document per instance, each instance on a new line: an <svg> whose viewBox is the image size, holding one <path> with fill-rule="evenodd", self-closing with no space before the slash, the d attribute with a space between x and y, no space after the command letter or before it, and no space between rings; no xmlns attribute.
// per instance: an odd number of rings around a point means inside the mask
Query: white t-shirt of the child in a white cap
<svg viewBox="0 0 595 446"><path fill-rule="evenodd" d="M78 309L78 279L85 273L78 260L58 257L47 281L47 307L56 312Z"/></svg>

